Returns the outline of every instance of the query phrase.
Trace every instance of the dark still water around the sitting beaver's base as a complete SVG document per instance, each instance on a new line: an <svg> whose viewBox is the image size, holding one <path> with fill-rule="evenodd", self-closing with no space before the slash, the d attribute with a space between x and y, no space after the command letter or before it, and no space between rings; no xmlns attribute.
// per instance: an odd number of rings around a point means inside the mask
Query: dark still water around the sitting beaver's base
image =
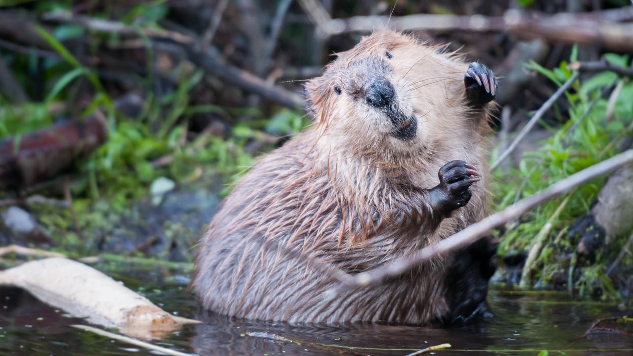
<svg viewBox="0 0 633 356"><path fill-rule="evenodd" d="M205 324L185 326L164 340L151 341L185 353L407 355L430 345L450 343L452 348L435 354L536 356L541 350L549 350L549 355L633 355L630 322L605 324L627 331L628 335L601 332L591 334L590 340L575 340L596 319L626 315L630 310L620 310L610 303L570 300L557 293L535 295L494 290L489 296L491 315L475 324L451 329L376 324L290 326L196 314L195 302L185 293L187 277L182 272L160 269L130 272L130 267L124 273L107 272L168 312L204 318ZM21 289L0 289L0 355L160 354L70 327L81 322ZM248 336L253 332L274 333L297 343Z"/></svg>

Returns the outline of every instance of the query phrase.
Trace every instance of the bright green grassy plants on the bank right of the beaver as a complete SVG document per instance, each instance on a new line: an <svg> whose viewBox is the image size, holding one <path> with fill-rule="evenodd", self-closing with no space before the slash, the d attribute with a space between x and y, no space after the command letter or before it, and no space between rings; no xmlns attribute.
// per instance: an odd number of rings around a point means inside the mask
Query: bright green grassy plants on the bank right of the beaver
<svg viewBox="0 0 633 356"><path fill-rule="evenodd" d="M571 61L577 60L574 50ZM629 56L605 54L605 60L618 65L627 65ZM548 77L557 85L561 85L572 72L567 69L567 62L559 67L548 70L535 62L526 65L530 70L536 70ZM608 108L609 98L604 98L602 92L611 86L620 84L620 94L613 108ZM509 172L496 172L493 189L495 196L495 210L501 210L513 203L517 198L532 195L560 181L568 175L601 162L617 153L614 142L632 134L631 120L633 117L633 103L628 99L633 97L633 82L627 78L618 78L615 73L602 72L589 79L577 80L572 88L565 93L569 105L568 120L560 114L560 127L548 127L551 137L539 143L539 149L526 152L518 164L518 168L511 168ZM611 110L611 117L606 112ZM494 155L493 155L494 156ZM602 179L584 184L573 191L570 202L555 221L547 243L537 259L536 281L538 285L546 286L554 274L567 274L577 241L568 239L565 229L573 220L589 210L602 186ZM565 196L549 201L527 213L523 221L516 227L508 229L499 245L499 253L506 255L513 251L527 251L532 245L532 238L541 230L545 222L551 217ZM618 241L619 243L620 241ZM621 241L624 243L624 241ZM590 292L596 288L602 289L606 295L615 295L611 281L606 276L606 265L611 259L604 256L591 267L582 269L582 276L575 282L575 287L581 293ZM573 264L571 269L573 272Z"/></svg>

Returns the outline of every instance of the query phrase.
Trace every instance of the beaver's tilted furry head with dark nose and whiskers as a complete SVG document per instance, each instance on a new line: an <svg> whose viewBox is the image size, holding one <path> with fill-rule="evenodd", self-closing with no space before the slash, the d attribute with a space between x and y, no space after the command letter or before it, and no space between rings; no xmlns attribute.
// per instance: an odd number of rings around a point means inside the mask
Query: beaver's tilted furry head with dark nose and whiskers
<svg viewBox="0 0 633 356"><path fill-rule="evenodd" d="M442 124L430 121L441 120L453 100L446 93L459 90L444 82L460 83L458 64L411 36L375 32L339 53L306 86L316 124L327 134L376 147L423 145Z"/></svg>

